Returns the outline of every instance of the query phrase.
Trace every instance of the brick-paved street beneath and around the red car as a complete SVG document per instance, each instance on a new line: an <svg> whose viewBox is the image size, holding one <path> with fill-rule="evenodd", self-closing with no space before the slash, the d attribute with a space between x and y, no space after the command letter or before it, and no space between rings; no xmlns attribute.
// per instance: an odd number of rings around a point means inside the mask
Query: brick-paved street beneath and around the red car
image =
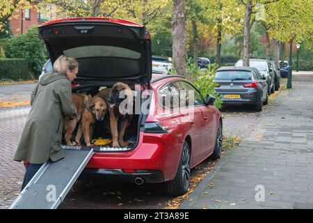
<svg viewBox="0 0 313 223"><path fill-rule="evenodd" d="M299 76L298 79L302 80L303 76ZM294 84L298 84L298 79ZM222 109L225 134L243 139L249 137L250 130L255 129L262 118L271 116L279 101L278 99L271 100L262 112L252 112L248 107ZM0 139L2 141L0 146L0 208L10 206L10 203L17 197L22 183L24 167L12 160L28 112L29 107L0 109ZM271 119L267 120L267 122L271 121ZM259 141L255 141L254 144L259 145ZM222 159L220 163L225 162L223 160L226 159ZM210 164L206 160L202 165L209 166ZM160 185L134 187L134 185L88 183L81 187L77 185L77 187L79 190L70 192L61 208L162 208L171 200L160 191ZM199 206L199 208L202 207Z"/></svg>

